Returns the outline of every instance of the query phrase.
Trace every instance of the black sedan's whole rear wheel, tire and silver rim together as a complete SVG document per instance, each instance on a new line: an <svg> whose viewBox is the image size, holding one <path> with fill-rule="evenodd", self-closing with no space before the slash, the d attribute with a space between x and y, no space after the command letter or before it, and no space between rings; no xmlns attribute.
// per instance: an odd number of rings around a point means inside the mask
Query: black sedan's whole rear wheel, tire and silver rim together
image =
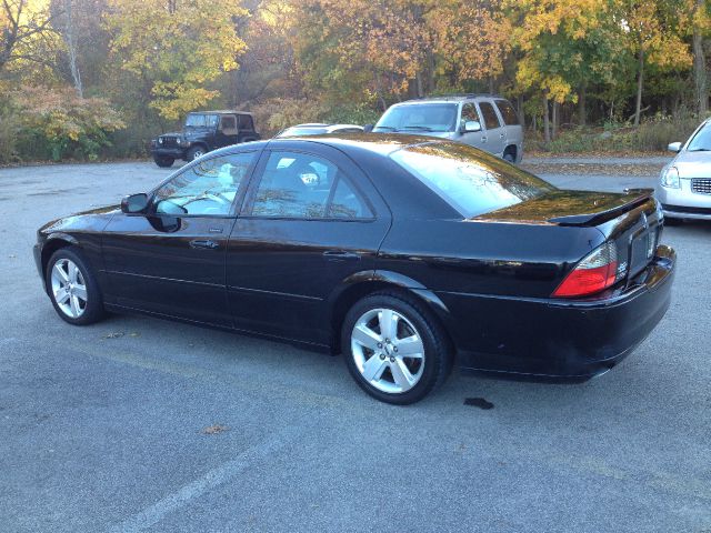
<svg viewBox="0 0 711 533"><path fill-rule="evenodd" d="M395 330L383 335L380 324L387 330L388 318ZM375 293L357 302L343 321L341 348L360 388L397 405L422 400L444 382L452 366L450 342L437 320L414 299L397 293ZM403 355L404 350L413 356Z"/></svg>

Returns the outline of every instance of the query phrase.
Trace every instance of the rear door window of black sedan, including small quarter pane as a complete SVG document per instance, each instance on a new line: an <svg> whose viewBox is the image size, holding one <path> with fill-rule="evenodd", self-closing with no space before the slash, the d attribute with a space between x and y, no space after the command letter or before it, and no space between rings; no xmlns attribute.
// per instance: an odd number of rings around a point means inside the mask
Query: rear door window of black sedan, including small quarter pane
<svg viewBox="0 0 711 533"><path fill-rule="evenodd" d="M272 152L257 189L252 215L321 219L372 217L330 161L300 152Z"/></svg>

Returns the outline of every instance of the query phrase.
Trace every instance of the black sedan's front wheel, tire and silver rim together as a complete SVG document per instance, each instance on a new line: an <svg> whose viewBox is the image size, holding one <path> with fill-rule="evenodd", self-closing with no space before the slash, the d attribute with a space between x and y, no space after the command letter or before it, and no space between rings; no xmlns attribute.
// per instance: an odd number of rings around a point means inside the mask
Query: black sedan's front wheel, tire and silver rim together
<svg viewBox="0 0 711 533"><path fill-rule="evenodd" d="M97 278L77 248L62 248L52 254L47 263L44 281L54 311L66 322L72 325L88 325L104 316L103 299ZM69 294L66 289L68 284ZM60 295L64 295L66 300L62 301Z"/></svg>

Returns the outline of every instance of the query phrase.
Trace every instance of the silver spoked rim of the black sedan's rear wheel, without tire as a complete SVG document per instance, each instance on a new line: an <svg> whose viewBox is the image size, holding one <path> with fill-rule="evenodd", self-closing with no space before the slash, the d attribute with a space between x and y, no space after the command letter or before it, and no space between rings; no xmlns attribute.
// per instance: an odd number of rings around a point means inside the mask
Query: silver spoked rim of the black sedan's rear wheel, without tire
<svg viewBox="0 0 711 533"><path fill-rule="evenodd" d="M356 321L351 353L363 379L390 394L412 389L424 371L424 344L419 332L392 309L371 309Z"/></svg>

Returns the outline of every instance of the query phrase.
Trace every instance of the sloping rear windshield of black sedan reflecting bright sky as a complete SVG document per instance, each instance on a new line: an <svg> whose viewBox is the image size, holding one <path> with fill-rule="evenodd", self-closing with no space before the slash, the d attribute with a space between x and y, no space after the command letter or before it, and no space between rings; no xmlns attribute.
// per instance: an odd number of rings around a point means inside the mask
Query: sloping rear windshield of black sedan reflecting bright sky
<svg viewBox="0 0 711 533"><path fill-rule="evenodd" d="M464 218L555 190L533 174L465 144L418 144L402 148L390 157Z"/></svg>

